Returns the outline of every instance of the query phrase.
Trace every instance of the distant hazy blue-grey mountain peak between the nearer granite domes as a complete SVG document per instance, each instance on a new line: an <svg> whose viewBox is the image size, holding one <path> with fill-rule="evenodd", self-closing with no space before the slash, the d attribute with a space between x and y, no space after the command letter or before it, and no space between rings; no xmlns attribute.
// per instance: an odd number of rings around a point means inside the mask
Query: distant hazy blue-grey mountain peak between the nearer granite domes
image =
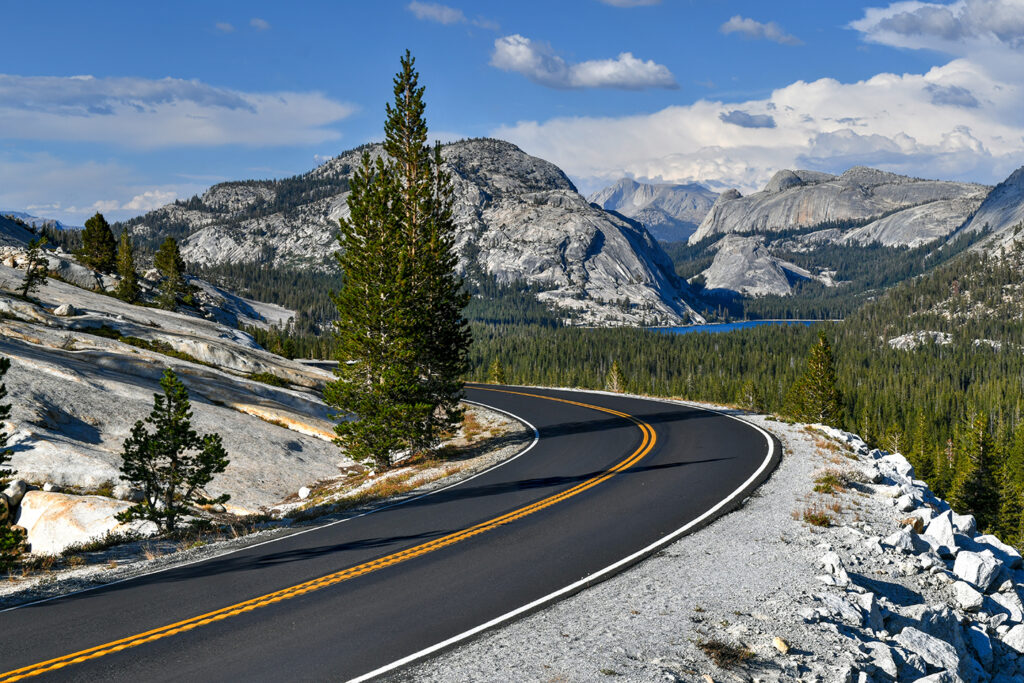
<svg viewBox="0 0 1024 683"><path fill-rule="evenodd" d="M715 204L717 193L699 183L649 184L622 178L588 199L643 223L665 242L685 242Z"/></svg>

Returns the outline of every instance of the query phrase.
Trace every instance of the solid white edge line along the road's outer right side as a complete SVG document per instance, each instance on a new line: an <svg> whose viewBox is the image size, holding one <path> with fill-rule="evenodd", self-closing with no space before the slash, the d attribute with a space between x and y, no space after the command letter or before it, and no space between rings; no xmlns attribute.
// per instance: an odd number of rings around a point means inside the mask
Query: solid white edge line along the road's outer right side
<svg viewBox="0 0 1024 683"><path fill-rule="evenodd" d="M529 387L529 388L534 388L534 387ZM550 387L536 387L536 388L550 388ZM580 393L599 393L599 394L608 394L608 395L615 395L615 396L622 396L623 395L623 394L618 394L618 393L611 393L611 392L605 392L605 391L587 391L587 390L583 390L583 389L567 389L567 390L568 391L579 391ZM473 629L470 629L469 631L465 631L463 633L460 633L457 636L453 636L453 637L449 638L447 640L441 641L441 642L439 642L439 643L437 643L435 645L431 645L430 647L426 647L426 648L420 650L419 652L414 652L413 654L410 654L409 656L402 657L401 659L397 659L395 661L392 661L391 664L384 665L380 669L375 669L374 671L372 671L372 672L370 672L368 674L364 674L364 675L361 675L361 676L359 676L357 678L350 679L348 683L360 683L361 681L369 681L370 679L376 678L376 677L378 677L378 676L380 676L382 674L386 674L389 671L394 671L395 669L399 669L401 667L404 667L408 664L412 664L413 661L416 661L417 659L421 659L421 658L423 658L423 657L425 657L425 656L427 656L429 654L432 654L432 653L434 653L434 652L436 652L438 650L442 650L442 649L444 649L444 648L446 648L446 647L449 647L451 645L455 645L456 643L458 643L460 641L468 640L469 638L472 638L473 636L477 635L478 633L481 633L481 632L486 631L488 629L493 629L494 627L499 626L501 624L504 624L506 622L510 622L510 621L514 620L516 616L519 616L520 614L523 614L524 612L529 612L529 611L531 611L534 609L537 609L538 607L541 607L541 606L543 606L545 604L554 602L555 600L557 600L559 597L565 595L566 593L577 592L577 591L585 588L588 584L591 584L591 583L593 583L593 582L595 582L597 580L600 580L601 578L606 577L609 573L615 572L617 569L622 568L624 565L629 565L629 564L635 562L639 558L642 558L642 557L645 557L647 555L650 555L651 553L653 553L658 548L662 548L664 546L667 546L667 545L675 542L679 537L681 537L684 533L686 533L686 531L688 531L689 529L693 528L694 526L696 526L697 524L699 524L700 522L702 522L703 520L708 519L708 517L714 515L716 512L718 512L723 507L725 507L726 505L728 505L729 503L731 503L733 500L735 500L735 498L737 496L739 496L740 494L742 494L743 490L751 483L753 483L754 481L756 481L758 479L758 477L760 477L761 474L764 473L765 469L771 464L772 457L775 454L775 441L772 439L771 434L769 434L766 430L762 429L760 426L754 424L753 422L748 422L746 420L742 420L742 419L740 419L740 418L738 418L738 417L736 417L734 415L729 415L728 413L724 413L722 411L718 411L718 410L715 410L713 408L705 408L702 405L696 405L694 403L689 403L689 402L686 402L686 401L667 400L667 399L664 399L664 398L648 398L646 396L633 396L633 395L629 395L629 394L627 394L627 396L630 397L630 398L639 398L641 400L650 400L650 401L659 402L659 403L673 403L673 404L676 404L676 405L685 404L685 405L688 405L690 408L695 408L695 409L700 410L700 411L707 411L709 413L717 413L718 415L722 415L722 416L727 417L727 418L732 418L733 420L735 420L737 422L741 422L744 425L748 425L750 427L754 427L759 432L761 432L761 435L764 436L765 439L768 441L768 455L765 456L765 460L764 460L763 463L761 463L761 467L759 467L758 470L754 474L752 474L750 476L750 478L746 479L746 481L744 481L743 483L741 483L738 488L736 488L731 494L729 494L728 498L723 499L717 505L715 505L715 507L713 507L710 510L706 511L702 515L700 515L696 519L690 520L689 522L687 522L683 526L680 526L679 528L677 528L672 533L658 539L657 541L655 541L654 543L650 544L646 548L643 548L642 550L638 550L637 552L633 553L632 555L630 555L628 557L624 557L623 559L618 560L617 562L615 562L613 564L609 564L608 566L604 567L603 569L598 569L597 571L595 571L595 572L593 572L593 573L591 573L591 574L589 574L587 577L584 577L583 579L581 579L580 581L578 581L575 583L569 584L568 586L566 586L566 587L564 587L562 589L559 589L559 590L557 590L557 591L555 591L553 593L549 593L548 595L545 595L542 598L538 598L537 600L534 600L529 604L525 604L525 605L523 605L521 607L513 609L512 611L506 612L506 613L502 614L501 616L497 616L497 617L490 620L489 622L487 622L485 624L481 624L480 626L475 627Z"/></svg>

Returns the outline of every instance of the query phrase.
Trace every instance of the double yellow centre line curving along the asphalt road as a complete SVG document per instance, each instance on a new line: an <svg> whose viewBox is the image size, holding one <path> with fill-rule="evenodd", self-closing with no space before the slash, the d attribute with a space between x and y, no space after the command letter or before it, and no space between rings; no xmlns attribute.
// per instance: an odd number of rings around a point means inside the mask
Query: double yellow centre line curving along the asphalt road
<svg viewBox="0 0 1024 683"><path fill-rule="evenodd" d="M115 640L110 643L104 643L103 645L96 645L95 647L90 647L85 650L80 650L78 652L73 652L71 654L66 654L53 659L47 659L46 661L40 661L38 664L30 665L28 667L23 667L20 669L15 669L13 671L8 671L6 673L0 674L0 683L11 683L13 681L20 681L26 678L33 676L39 676L40 674L45 674L46 672L56 671L58 669L63 669L75 664L81 664L83 661L88 661L89 659L96 659L106 654L113 652L120 652L121 650L128 649L129 647L135 647L137 645L142 645L144 643L153 642L155 640L160 640L162 638L167 638L168 636L173 636L185 631L191 631L193 629L199 628L201 626L206 626L207 624L212 624L214 622L219 622L225 620L229 616L236 616L238 614L243 614L259 607L264 607L275 602L281 602L283 600L288 600L290 598L297 597L299 595L305 595L312 591L318 591L322 588L327 588L328 586L333 586L339 584L343 581L348 581L349 579L354 579L356 577L361 577L364 574L370 573L372 571L377 571L378 569L383 569L384 567L393 566L399 562L404 562L411 560L415 557L420 557L431 553L435 550L440 550L441 548L446 548L460 541L465 541L466 539L472 538L484 531L488 531L493 528L503 526L517 519L521 519L527 515L531 515L535 512L549 508L552 505L560 503L566 499L572 498L583 492L596 486L599 483L607 481L612 476L622 472L623 470L629 469L641 459L643 459L651 449L654 447L654 441L657 439L654 429L632 415L626 413L621 413L618 411L613 411L609 408L602 408L600 405L593 405L591 403L582 403L574 400L567 400L565 398L554 398L552 396L542 396L540 394L525 393L521 391L508 391L504 389L487 389L484 387L476 387L481 391L495 391L498 393L511 393L520 396L529 396L532 398L544 398L546 400L554 400L561 403L569 403L571 405L580 405L582 408L589 408L595 411L601 411L602 413L609 413L611 415L625 418L633 422L640 431L643 432L643 440L640 446L634 451L628 458L622 462L615 464L613 467L608 469L601 474L595 475L586 481L583 481L571 488L567 488L559 494L554 494L548 498L542 499L536 503L531 503L525 507L513 510L494 519L488 519L487 521L480 522L473 526L455 531L447 536L440 537L439 539L434 539L433 541L428 541L422 543L418 546L412 548L407 548L406 550L386 555L384 557L378 558L376 560L371 560L369 562L364 562L362 564L357 564L355 566L348 567L347 569L341 569L334 573L329 573L319 579L313 579L302 584L297 584L290 588L285 588L280 591L274 591L273 593L267 593L257 598L252 598L251 600L246 600L245 602L239 602L233 605L228 605L227 607L222 607L220 609L206 612L205 614L200 614L199 616L193 616L181 622L175 622L174 624L168 624L167 626L160 627L158 629L153 629L151 631L145 631L143 633L135 634L134 636L128 636L127 638L122 638L120 640Z"/></svg>

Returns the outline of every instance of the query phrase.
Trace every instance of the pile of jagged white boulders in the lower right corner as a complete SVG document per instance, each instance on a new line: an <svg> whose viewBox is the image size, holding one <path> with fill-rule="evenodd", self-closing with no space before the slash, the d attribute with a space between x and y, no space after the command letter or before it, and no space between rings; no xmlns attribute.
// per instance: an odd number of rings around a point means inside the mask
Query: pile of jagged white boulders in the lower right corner
<svg viewBox="0 0 1024 683"><path fill-rule="evenodd" d="M903 456L820 429L854 446L877 495L906 515L885 538L856 523L844 527L843 546L826 544L819 561L824 589L800 611L849 639L855 658L847 680L1024 680L1020 553L978 535L974 517L956 514L914 479ZM869 578L885 574L902 585ZM944 599L926 601L927 593Z"/></svg>

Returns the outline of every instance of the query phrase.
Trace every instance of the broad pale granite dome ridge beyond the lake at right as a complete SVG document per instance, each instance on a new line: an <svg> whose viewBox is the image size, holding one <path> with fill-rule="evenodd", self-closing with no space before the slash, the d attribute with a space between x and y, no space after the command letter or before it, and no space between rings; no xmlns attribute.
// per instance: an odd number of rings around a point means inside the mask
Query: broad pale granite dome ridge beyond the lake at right
<svg viewBox="0 0 1024 683"><path fill-rule="evenodd" d="M919 246L953 232L978 210L989 187L922 180L857 166L842 175L776 173L759 193L719 196L690 237L841 228L837 240L887 247Z"/></svg>

